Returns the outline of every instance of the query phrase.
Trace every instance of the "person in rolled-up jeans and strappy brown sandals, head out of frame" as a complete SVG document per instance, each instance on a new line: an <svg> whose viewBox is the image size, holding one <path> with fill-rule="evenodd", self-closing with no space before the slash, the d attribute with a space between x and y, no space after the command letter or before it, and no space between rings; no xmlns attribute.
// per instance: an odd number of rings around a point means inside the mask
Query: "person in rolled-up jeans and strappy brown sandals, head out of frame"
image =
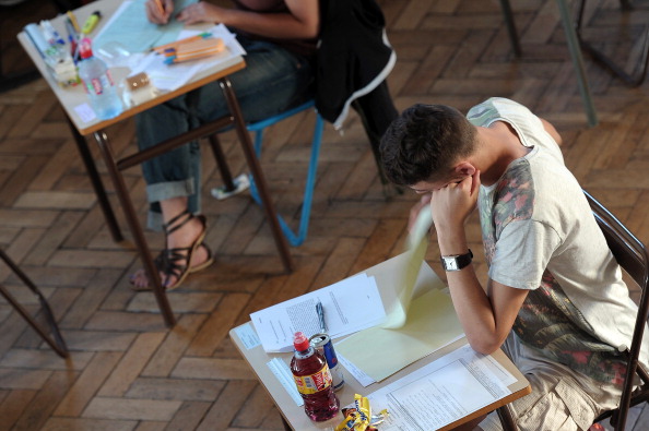
<svg viewBox="0 0 649 431"><path fill-rule="evenodd" d="M187 24L223 23L246 49L247 67L229 75L244 118L259 121L314 97L314 65L319 32L318 0L233 0L235 8L200 1L181 11L173 0L146 2L151 22L164 25L172 15ZM219 83L158 105L135 118L141 149L227 115ZM198 142L142 164L151 204L148 226L165 232L165 250L155 259L163 286L178 287L187 274L208 267L212 253L203 242L200 212L201 171ZM149 288L143 270L131 276L135 289Z"/></svg>

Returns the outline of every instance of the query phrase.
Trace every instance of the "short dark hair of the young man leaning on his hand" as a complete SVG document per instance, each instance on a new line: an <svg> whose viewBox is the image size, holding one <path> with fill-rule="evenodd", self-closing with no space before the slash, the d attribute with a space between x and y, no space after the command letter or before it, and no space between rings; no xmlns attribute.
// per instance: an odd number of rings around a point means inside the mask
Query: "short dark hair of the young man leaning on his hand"
<svg viewBox="0 0 649 431"><path fill-rule="evenodd" d="M476 130L456 108L416 104L388 128L379 147L385 173L399 185L441 180L469 156Z"/></svg>

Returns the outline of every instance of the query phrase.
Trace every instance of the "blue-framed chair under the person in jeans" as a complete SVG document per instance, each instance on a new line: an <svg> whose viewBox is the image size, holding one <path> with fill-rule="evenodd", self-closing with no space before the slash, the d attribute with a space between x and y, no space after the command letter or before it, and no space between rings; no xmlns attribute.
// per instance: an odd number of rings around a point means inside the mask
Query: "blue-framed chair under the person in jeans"
<svg viewBox="0 0 649 431"><path fill-rule="evenodd" d="M279 113L274 117L248 124L247 125L248 131L255 133L253 145L255 145L255 153L257 155L257 158L261 157L261 149L262 149L262 144L263 144L263 131L266 130L266 128L276 124L278 122L280 122L288 117L293 117L294 115L297 115L299 112L303 112L305 110L309 110L312 108L315 108L315 100L309 100L298 107L288 109L287 111ZM320 155L320 143L322 142L322 131L324 129L324 120L317 112L316 112L316 116L317 116L316 127L314 129L314 137L311 140L311 156L309 159L309 167L308 167L308 172L307 172L307 178L306 178L306 184L304 188L304 199L303 199L302 211L300 211L300 216L299 216L299 226L298 226L297 231L292 230L291 227L288 226L288 224L284 220L284 217L282 217L281 215L278 214L278 222L280 223L280 227L282 228L282 231L284 232L284 236L286 237L286 240L288 241L288 243L294 247L300 246L304 242L304 240L306 239L308 226L309 226L309 217L311 214L311 202L312 202L312 197L314 197L314 188L316 184L316 171L318 169L318 157ZM214 145L214 143L212 143L212 146L213 147L216 146L216 148L220 147L219 143L216 143L216 145ZM227 168L227 164L224 163L223 156L220 155L220 153L221 153L220 149L216 149L214 152L214 155L216 156L216 160L219 163L219 167L222 172L225 185L223 185L222 188L219 188L212 192L212 194L217 199L222 199L222 196L226 197L228 195L228 192L236 190L236 188L238 185L232 180L232 176L229 175L229 169ZM252 180L252 178L250 178L249 181L250 181L250 194L252 195L252 199L255 199L255 202L257 202L259 205L261 205L261 199L259 197L259 193L257 191L257 187L255 185L255 181ZM241 188L239 188L239 190Z"/></svg>

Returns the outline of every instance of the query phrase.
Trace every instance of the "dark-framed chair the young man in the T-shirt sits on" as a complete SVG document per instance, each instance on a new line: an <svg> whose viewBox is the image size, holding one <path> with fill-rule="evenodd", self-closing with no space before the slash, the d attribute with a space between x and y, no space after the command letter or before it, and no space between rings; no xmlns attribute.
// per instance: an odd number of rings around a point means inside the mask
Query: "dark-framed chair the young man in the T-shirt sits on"
<svg viewBox="0 0 649 431"><path fill-rule="evenodd" d="M649 258L647 255L647 248L640 240L629 232L628 229L591 194L586 191L583 191L583 193L586 194L598 225L606 238L611 252L617 260L620 266L622 266L626 274L638 285L641 292L632 345L625 352L627 356L627 367L620 406L616 409L604 411L595 419L597 423L611 418L611 423L615 427L615 430L624 430L629 407L649 400L649 373L638 361L642 335L645 334L645 326L649 314ZM641 382L635 391L633 390L634 381ZM516 430L514 420L506 406L498 408L497 412L505 430Z"/></svg>

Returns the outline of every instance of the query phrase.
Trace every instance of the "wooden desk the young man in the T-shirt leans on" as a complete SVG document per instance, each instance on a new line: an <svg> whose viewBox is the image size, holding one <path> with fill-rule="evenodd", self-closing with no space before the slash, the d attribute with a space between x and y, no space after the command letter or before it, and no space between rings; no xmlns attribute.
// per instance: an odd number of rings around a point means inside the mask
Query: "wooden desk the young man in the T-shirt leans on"
<svg viewBox="0 0 649 431"><path fill-rule="evenodd" d="M381 294L384 304L390 303L396 298L394 286L397 286L397 284L400 283L400 279L398 279L399 271L397 271L397 268L403 264L403 258L404 254L398 255L365 271L367 275L375 276L377 286ZM438 278L433 272L433 270L427 264L422 265L422 270L420 271L420 277L417 279L417 285L415 289L426 289L427 287L429 288L432 285L435 285L436 283L438 283ZM246 324L251 323L248 322ZM263 387L268 391L270 397L273 399L275 406L282 414L282 417L285 420L285 424L287 427L291 427L294 430L298 431L326 430L331 429L332 427L337 426L342 421L342 415L339 415L335 417L335 419L331 419L326 422L311 422L305 415L304 407L297 406L295 402L291 398L288 393L280 384L278 379L273 375L273 373L267 366L267 362L273 358L279 357L282 358L286 363L290 363L291 354L267 354L261 347L261 345L247 349L245 345L241 343L241 339L238 337L236 328L231 330L229 336L235 343L235 346L237 347L246 362L248 362L248 364L257 375L257 379L259 379ZM410 374L415 370L418 370L420 368L433 362L434 360L442 357L447 352L452 351L464 344L467 344L467 339L461 338L452 343L451 345L427 356L426 358L423 358L410 364L405 369L399 371L398 373L391 375L382 382L374 383L367 387L363 387L343 368L345 385L343 386L343 388L337 392L337 395L341 402L341 406L346 406L347 404L353 403L354 394L361 394L366 396L375 392L376 390L384 387L401 379L402 376ZM445 427L444 429L457 427L481 415L492 411L497 407L504 406L517 398L520 398L531 392L529 382L502 350L496 351L492 355L492 357L494 357L517 379L517 382L509 386L509 390L511 390L511 394L479 411L475 411L474 414L457 422L449 424L448 427Z"/></svg>

